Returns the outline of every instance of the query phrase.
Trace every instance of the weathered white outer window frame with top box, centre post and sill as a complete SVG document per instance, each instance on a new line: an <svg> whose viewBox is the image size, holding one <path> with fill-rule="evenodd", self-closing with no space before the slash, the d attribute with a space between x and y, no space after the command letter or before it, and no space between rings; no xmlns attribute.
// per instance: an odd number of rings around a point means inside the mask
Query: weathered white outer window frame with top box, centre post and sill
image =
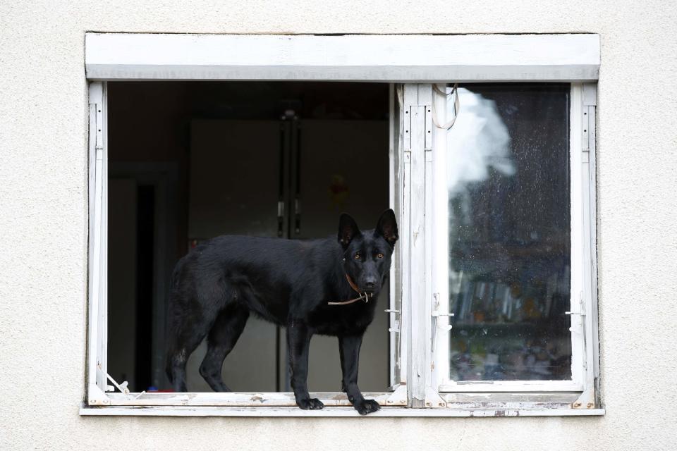
<svg viewBox="0 0 677 451"><path fill-rule="evenodd" d="M227 49L227 50L224 50ZM434 218L432 178L421 177L434 165L425 149L433 145L425 134L430 127L426 106L432 105L433 82L563 81L595 82L599 73L597 35L85 35L85 71L90 80L90 253L87 395L81 414L157 415L252 415L252 416L352 416L345 395L314 394L328 408L301 411L290 393L110 393L106 381L107 323L107 142L106 81L108 80L326 80L371 81L392 84L417 83L416 104L411 108L422 122L410 124L405 137L401 110L400 137L391 138L391 204L401 209L401 240L394 273L401 273L401 296L391 297L391 344L399 343L399 355L391 355L392 393L365 393L386 408L371 416L511 416L603 414L593 408L571 409L562 402L543 402L545 395L530 393L517 404L479 405L468 399L443 399L430 369L432 354ZM409 86L409 89L406 88ZM412 85L403 97L413 99ZM391 89L392 92L392 89ZM427 102L427 103L425 103ZM391 94L391 112L395 108ZM590 117L594 124L594 108ZM391 121L394 124L394 114ZM589 127L590 132L594 128ZM391 127L392 131L392 127ZM573 133L572 133L573 135ZM594 133L588 140L594 144ZM588 146L590 149L590 145ZM417 154L415 149L422 150ZM592 179L588 215L592 229L588 245L594 249L594 145L590 156ZM407 183L407 171L410 183ZM427 180L423 185L413 180ZM585 185L585 183L584 183ZM583 187L582 187L583 189ZM397 194L396 194L397 193ZM425 202L410 202L423 196ZM396 210L397 211L397 210ZM435 230L435 232L432 232ZM412 239L420 236L421 240ZM587 236L587 235L586 235ZM446 237L445 237L446 240ZM584 240L585 241L585 240ZM437 244L436 244L437 246ZM588 249L588 254L590 254ZM584 252L585 253L585 252ZM594 252L592 252L594 254ZM596 267L589 261L595 290ZM413 274L425 274L415 277ZM396 292L396 290L392 290ZM411 299L427 302L412 302ZM444 304L444 303L441 303ZM586 305L586 308L588 306ZM590 302L585 331L596 342L596 306ZM586 310L587 311L587 310ZM590 330L588 330L590 322ZM422 331L423 334L420 334ZM438 340L436 339L436 342ZM596 347L587 362L597 369ZM391 346L394 349L394 346ZM587 349L587 347L586 347ZM423 350L423 353L420 353ZM410 362L410 363L408 363ZM425 369L429 369L425 371ZM117 386L115 381L111 383ZM591 383L592 386L592 383ZM126 391L124 386L118 388ZM518 391L518 390L514 390ZM597 393L597 392L595 392ZM533 397L536 396L536 397ZM538 396L540 396L538 398ZM514 399L514 398L513 398ZM547 404L547 405L546 405ZM560 405L562 404L562 405ZM408 407L442 407L404 409ZM92 407L104 407L92 408ZM261 409L261 406L265 406ZM343 406L343 407L329 407ZM392 406L392 408L389 408ZM401 406L400 408L395 406ZM138 409L135 407L147 407ZM571 407L571 406L569 406Z"/></svg>

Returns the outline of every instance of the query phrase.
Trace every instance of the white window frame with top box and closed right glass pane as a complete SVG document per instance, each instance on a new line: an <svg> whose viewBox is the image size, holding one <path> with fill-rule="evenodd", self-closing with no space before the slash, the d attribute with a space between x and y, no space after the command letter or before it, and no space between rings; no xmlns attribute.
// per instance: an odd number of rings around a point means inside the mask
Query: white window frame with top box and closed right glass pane
<svg viewBox="0 0 677 451"><path fill-rule="evenodd" d="M209 54L214 46L228 48L223 39L248 38L257 49L254 56L242 56L237 50L226 56ZM137 50L126 54L121 49L130 48L130 39L140 39L145 46L135 45ZM282 53L288 61L276 60L279 56L273 56L271 49L288 45L290 39L300 47ZM406 49L401 39L408 39ZM156 58L163 51L166 56L166 48L176 47L177 42L185 47L180 45L181 51L170 54L179 63ZM439 44L444 44L441 54L431 50L439 49ZM504 51L489 50L496 46ZM181 53L195 56L196 49L202 55L197 60ZM318 49L322 49L320 56L312 61ZM528 58L520 56L525 49L529 49ZM554 49L563 49L557 61L551 56L557 54ZM365 54L374 56L369 66L362 61ZM210 59L213 72L200 64L205 55L223 58ZM259 58L261 64L252 64L249 58ZM88 34L87 77L104 81L90 83L90 319L85 404L121 407L109 409L115 413L129 412L123 407L131 406L190 406L245 409L240 413L264 407L258 415L308 414L285 409L294 400L284 392L129 393L126 385L119 385L122 381L109 376L115 370L109 366L107 330L108 133L114 118L109 117L112 85L105 80L288 80L290 68L298 67L293 74L301 80L367 80L390 85L387 178L401 240L390 278L389 327L384 330L389 334L390 388L365 393L394 407L379 414L603 413L596 390L594 252L592 82L598 66L599 44L594 35ZM251 72L252 67L257 71ZM457 82L461 84L453 89ZM195 127L209 128L209 123ZM154 352L155 347L150 350L152 359ZM319 397L327 409L313 414L353 414L348 409L332 412L331 406L349 405L344 395L321 393ZM92 409L85 407L81 412L92 414Z"/></svg>

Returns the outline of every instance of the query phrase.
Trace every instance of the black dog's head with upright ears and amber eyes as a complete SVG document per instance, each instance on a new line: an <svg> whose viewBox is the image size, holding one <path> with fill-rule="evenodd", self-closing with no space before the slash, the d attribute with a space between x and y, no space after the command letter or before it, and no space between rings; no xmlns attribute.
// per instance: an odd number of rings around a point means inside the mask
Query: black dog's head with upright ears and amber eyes
<svg viewBox="0 0 677 451"><path fill-rule="evenodd" d="M374 230L360 232L348 214L338 220L338 242L343 247L343 269L360 292L376 295L390 270L398 239L395 212L383 212Z"/></svg>

